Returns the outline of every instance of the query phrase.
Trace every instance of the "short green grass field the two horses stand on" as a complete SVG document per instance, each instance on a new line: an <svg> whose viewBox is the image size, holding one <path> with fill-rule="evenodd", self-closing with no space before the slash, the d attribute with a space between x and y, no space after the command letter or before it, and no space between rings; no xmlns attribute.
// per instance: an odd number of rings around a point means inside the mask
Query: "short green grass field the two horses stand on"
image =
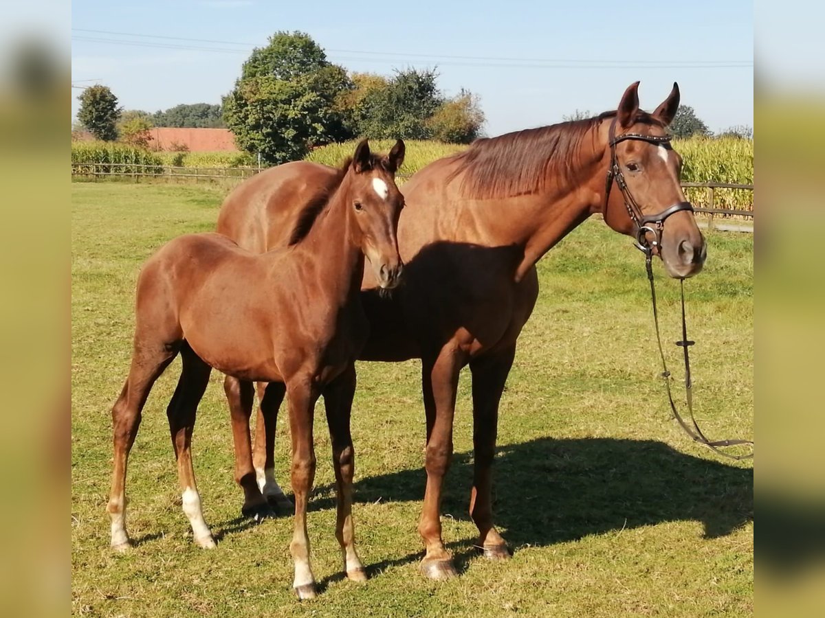
<svg viewBox="0 0 825 618"><path fill-rule="evenodd" d="M181 512L165 409L155 386L130 458L127 522L137 546L109 550L111 405L130 358L139 266L167 239L214 227L222 190L75 183L72 250L72 611L97 616L750 616L752 467L695 446L669 419L643 259L586 222L539 265L541 293L502 399L495 464L499 529L514 551L476 555L469 374L455 416L445 541L460 577L418 574L425 476L419 363L359 363L353 413L356 534L370 581L341 578L323 412L309 535L321 594L291 591L290 517L240 519L229 413L213 373L194 461L216 550L193 544ZM752 235L711 232L705 272L686 283L697 417L711 438L752 437ZM657 265L657 273L662 269ZM659 279L677 376L677 285ZM676 385L676 391L679 391ZM288 486L288 425L277 473Z"/></svg>

